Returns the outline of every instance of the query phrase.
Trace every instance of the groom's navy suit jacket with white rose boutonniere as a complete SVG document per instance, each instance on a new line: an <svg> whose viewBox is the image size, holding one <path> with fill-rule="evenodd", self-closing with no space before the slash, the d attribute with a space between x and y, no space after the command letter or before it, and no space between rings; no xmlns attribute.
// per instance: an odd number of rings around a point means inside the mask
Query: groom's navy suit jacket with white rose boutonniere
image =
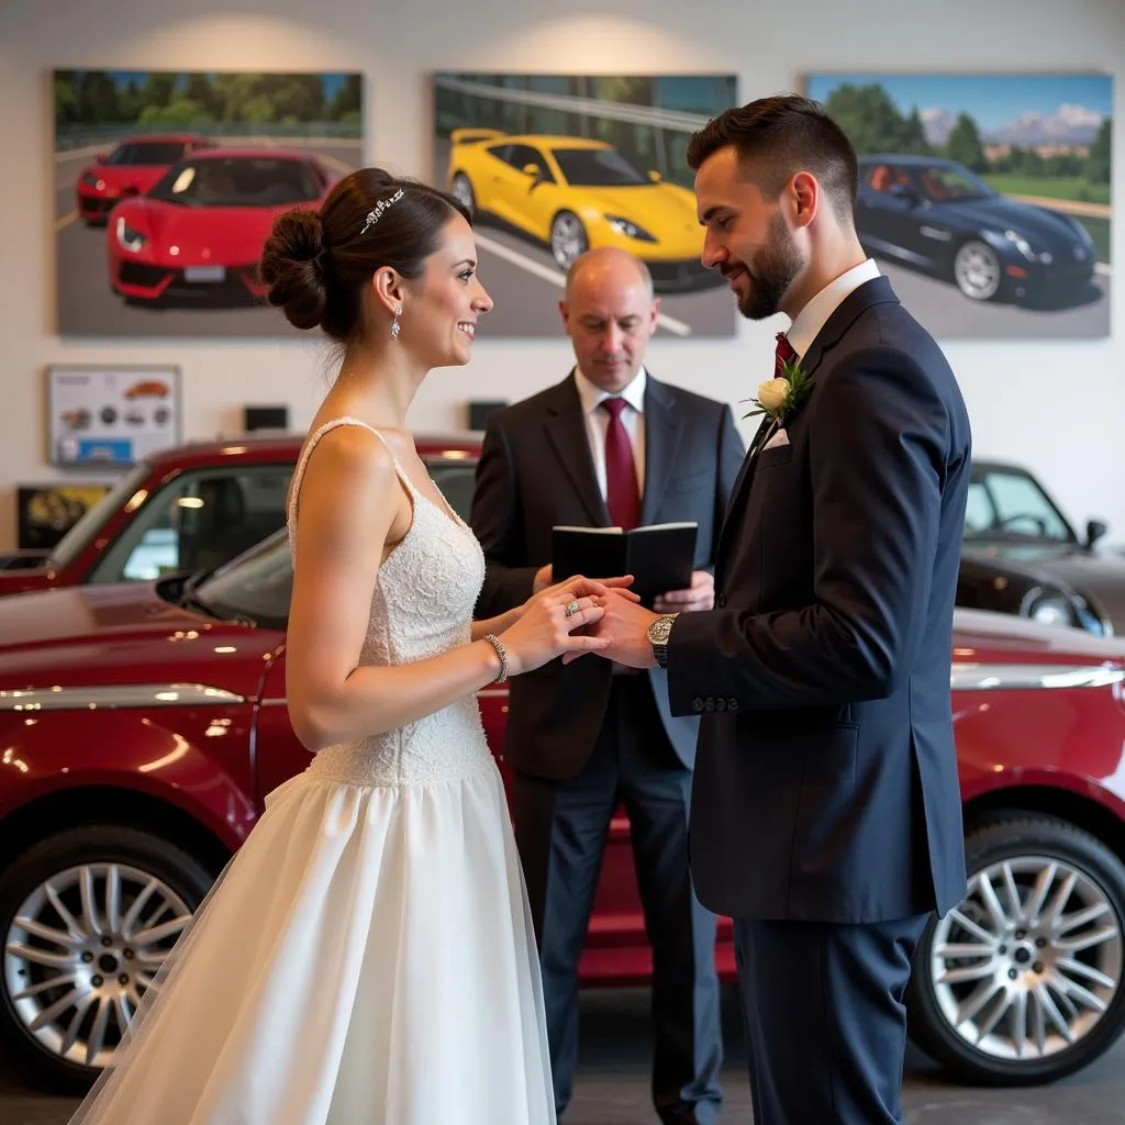
<svg viewBox="0 0 1125 1125"><path fill-rule="evenodd" d="M692 875L736 918L944 914L965 894L950 662L969 420L885 278L801 366L788 441L752 442L736 486L717 608L669 639L672 710L703 716Z"/></svg>

